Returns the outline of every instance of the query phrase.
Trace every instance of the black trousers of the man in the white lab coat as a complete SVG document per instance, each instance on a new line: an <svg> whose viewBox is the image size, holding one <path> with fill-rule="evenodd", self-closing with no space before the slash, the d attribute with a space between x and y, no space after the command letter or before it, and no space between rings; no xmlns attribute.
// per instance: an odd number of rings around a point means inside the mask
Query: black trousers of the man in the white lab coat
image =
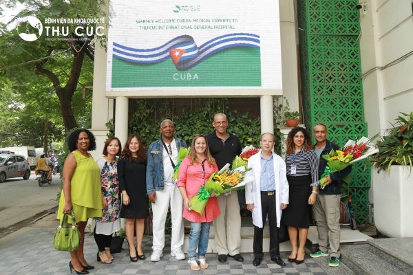
<svg viewBox="0 0 413 275"><path fill-rule="evenodd" d="M262 258L262 239L264 231L264 224L268 214L268 223L270 225L270 256L279 256L279 241L278 241L278 228L277 228L277 212L274 195L268 196L265 193L261 193L261 210L262 210L262 228L258 228L254 225L254 256Z"/></svg>

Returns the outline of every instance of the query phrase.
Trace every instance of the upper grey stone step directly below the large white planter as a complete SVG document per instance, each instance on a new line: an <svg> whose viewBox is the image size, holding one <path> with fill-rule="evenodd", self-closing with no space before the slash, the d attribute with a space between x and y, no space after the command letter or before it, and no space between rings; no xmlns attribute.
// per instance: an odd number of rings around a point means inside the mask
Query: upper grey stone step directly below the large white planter
<svg viewBox="0 0 413 275"><path fill-rule="evenodd" d="M385 261L413 274L413 238L370 239L370 251Z"/></svg>

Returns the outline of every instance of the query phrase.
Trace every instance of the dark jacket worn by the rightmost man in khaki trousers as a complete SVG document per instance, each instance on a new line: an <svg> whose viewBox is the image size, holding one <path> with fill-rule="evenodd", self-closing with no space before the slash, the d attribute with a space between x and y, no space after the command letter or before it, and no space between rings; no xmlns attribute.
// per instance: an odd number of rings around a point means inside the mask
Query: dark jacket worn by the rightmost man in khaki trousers
<svg viewBox="0 0 413 275"><path fill-rule="evenodd" d="M315 147L315 146L314 146ZM319 179L321 179L321 175L324 173L324 169L327 166L326 159L323 158L323 155L327 155L330 153L331 149L334 151L339 150L339 146L337 144L329 142L327 140L326 147L324 147L323 152L320 155L320 162L319 162ZM331 184L328 184L324 189L319 189L319 193L321 195L339 195L341 194L341 179L343 177L348 176L351 172L351 165L347 166L344 170L339 172L333 172L330 174L331 177Z"/></svg>

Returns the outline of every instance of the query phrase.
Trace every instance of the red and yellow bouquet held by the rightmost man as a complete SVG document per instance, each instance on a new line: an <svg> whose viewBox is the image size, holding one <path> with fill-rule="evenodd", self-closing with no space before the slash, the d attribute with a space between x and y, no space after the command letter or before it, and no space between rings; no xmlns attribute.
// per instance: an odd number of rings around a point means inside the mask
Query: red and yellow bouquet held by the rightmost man
<svg viewBox="0 0 413 275"><path fill-rule="evenodd" d="M377 135L374 135L371 139L361 137L357 142L348 140L341 150L331 150L327 155L322 155L327 161L327 166L321 175L320 188L324 189L328 185L326 176L330 173L344 170L352 163L378 153L379 149L372 144L372 140L376 137Z"/></svg>

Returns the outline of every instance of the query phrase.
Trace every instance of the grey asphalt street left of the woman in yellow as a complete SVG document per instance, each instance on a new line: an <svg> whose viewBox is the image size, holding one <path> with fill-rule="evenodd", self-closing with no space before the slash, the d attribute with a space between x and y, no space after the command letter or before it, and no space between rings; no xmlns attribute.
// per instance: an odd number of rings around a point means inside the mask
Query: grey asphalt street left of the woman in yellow
<svg viewBox="0 0 413 275"><path fill-rule="evenodd" d="M61 179L59 175L52 177L51 185L41 187L33 172L28 180L16 177L0 184L0 236L10 225L57 206L56 195L61 189Z"/></svg>

